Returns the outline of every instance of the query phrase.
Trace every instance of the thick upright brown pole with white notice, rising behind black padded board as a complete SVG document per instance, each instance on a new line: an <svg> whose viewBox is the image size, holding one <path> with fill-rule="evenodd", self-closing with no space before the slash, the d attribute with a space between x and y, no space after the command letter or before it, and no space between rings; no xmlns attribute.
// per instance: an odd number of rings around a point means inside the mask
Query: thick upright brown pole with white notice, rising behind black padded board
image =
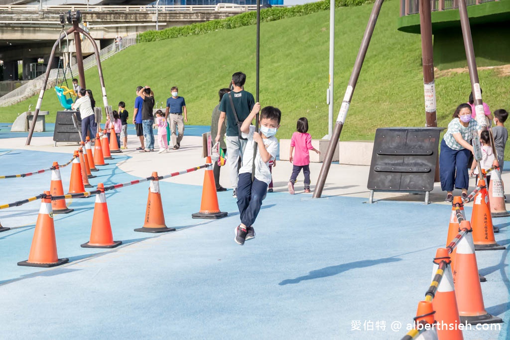
<svg viewBox="0 0 510 340"><path fill-rule="evenodd" d="M436 118L436 87L434 84L432 19L429 0L420 0L420 31L423 64L423 88L425 92L425 126L438 126Z"/></svg>

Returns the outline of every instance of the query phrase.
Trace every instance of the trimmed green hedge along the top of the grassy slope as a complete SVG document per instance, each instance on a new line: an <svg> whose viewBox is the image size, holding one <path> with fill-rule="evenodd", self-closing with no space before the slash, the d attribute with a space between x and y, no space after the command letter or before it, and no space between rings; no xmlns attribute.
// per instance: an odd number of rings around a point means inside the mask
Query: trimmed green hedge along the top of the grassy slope
<svg viewBox="0 0 510 340"><path fill-rule="evenodd" d="M336 7L359 6L367 0L335 0ZM316 3L304 4L294 7L274 7L260 11L261 22L274 21L295 16L307 15L319 11L329 10L329 0L322 0ZM147 31L140 34L140 41L157 41L185 37L189 35L200 35L219 30L230 30L242 26L256 24L257 12L245 12L225 19L211 20L207 22L192 23L190 25L171 27L162 31Z"/></svg>

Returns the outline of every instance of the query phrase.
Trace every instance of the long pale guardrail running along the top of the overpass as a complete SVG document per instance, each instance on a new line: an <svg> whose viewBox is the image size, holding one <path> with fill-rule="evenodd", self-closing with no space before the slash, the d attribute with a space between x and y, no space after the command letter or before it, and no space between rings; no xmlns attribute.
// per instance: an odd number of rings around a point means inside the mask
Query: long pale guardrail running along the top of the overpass
<svg viewBox="0 0 510 340"><path fill-rule="evenodd" d="M285 6L277 6L285 7ZM38 5L4 5L0 6L2 11L21 11L21 12L67 12L68 10L82 12L156 12L156 6L87 6L87 5L64 5L64 6L38 6ZM236 4L217 4L217 5L186 5L186 6L158 6L159 12L202 12L202 11L229 11L246 12L256 11L257 5L236 5Z"/></svg>

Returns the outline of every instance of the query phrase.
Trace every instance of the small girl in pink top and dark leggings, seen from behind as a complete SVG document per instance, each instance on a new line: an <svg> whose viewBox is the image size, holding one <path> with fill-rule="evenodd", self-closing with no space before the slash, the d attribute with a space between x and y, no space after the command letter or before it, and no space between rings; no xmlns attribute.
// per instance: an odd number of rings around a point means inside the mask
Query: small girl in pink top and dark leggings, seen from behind
<svg viewBox="0 0 510 340"><path fill-rule="evenodd" d="M308 119L301 117L297 120L297 131L292 134L290 141L290 155L289 162L293 164L292 175L290 176L287 187L289 193L294 195L294 184L297 179L297 175L303 170L304 175L304 192L310 193L310 154L309 150L315 151L320 154L320 151L312 146L312 136L308 134ZM294 151L292 156L292 151Z"/></svg>

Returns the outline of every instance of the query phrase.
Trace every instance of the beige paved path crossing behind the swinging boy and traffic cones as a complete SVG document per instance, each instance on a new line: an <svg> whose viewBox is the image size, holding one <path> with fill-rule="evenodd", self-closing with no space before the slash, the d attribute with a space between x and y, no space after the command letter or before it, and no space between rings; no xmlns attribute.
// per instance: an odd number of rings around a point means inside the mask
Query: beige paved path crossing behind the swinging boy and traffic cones
<svg viewBox="0 0 510 340"><path fill-rule="evenodd" d="M25 146L25 138L10 138L1 139L0 148L5 149L28 149L46 152L64 152L72 154L73 150L77 149L76 144L59 143L57 147L53 146L52 137L34 137L32 138L32 145ZM157 143L157 142L156 142ZM122 157L123 160L118 162L118 167L133 176L148 177L152 171L157 171L159 175L169 174L175 171L181 171L194 166L205 164L205 159L202 158L201 137L185 136L181 148L179 150L170 150L165 153L158 152L139 152L135 150L140 146L138 139L135 136L130 136L128 140L127 150L122 153L113 154L113 156ZM156 146L156 149L158 147ZM129 156L129 157L125 157ZM48 159L48 166L55 160ZM66 160L67 161L67 160ZM315 183L319 176L322 163L311 163L311 189L314 190ZM38 169L27 169L33 171ZM292 164L288 161L276 162L276 167L273 168L273 182L275 192L287 192L287 182L292 173ZM322 197L325 196L347 196L347 197L361 197L368 198L370 191L367 189L367 181L369 174L369 166L355 166L355 165L339 165L332 164L329 169L329 174L326 180L326 185L322 192ZM510 183L510 173L503 173L503 181ZM166 179L180 184L189 184L201 186L203 182L203 172L196 171L186 175L176 176L174 178ZM225 188L231 188L230 180L228 180L228 168L223 167L221 170L220 183ZM303 193L303 176L300 174L295 189L296 194L306 195L311 197L311 194ZM474 178L470 179L470 190L474 189ZM454 195L460 195L460 190L455 190ZM450 204L443 202L446 193L441 191L439 183L436 183L434 189L430 192L429 201L433 203ZM375 192L374 202L377 200L398 200L398 201L416 201L423 202L425 195L423 194L408 194L408 193L385 193ZM472 203L467 204L472 205Z"/></svg>

